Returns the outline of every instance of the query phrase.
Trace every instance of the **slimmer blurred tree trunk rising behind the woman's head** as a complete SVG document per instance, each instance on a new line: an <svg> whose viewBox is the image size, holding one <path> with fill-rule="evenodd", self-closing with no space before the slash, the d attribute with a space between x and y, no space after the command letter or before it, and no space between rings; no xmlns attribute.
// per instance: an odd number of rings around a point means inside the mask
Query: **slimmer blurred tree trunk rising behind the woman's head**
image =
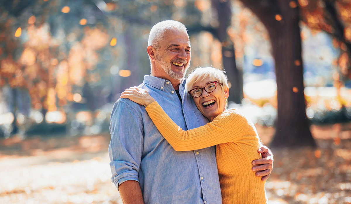
<svg viewBox="0 0 351 204"><path fill-rule="evenodd" d="M244 98L243 71L236 66L234 43L227 34L232 18L231 2L212 0L212 7L217 11L219 23L219 26L215 29L215 36L222 44L223 66L231 84L228 100L240 104Z"/></svg>

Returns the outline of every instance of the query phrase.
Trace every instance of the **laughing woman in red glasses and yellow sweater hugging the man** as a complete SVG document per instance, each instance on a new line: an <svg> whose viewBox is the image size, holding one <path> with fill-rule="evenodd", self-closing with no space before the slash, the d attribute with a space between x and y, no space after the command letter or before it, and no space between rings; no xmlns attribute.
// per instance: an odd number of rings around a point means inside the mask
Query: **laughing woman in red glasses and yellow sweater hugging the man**
<svg viewBox="0 0 351 204"><path fill-rule="evenodd" d="M251 169L261 158L261 146L254 125L238 110L226 110L229 87L226 75L213 67L197 68L187 78L186 88L200 112L210 121L204 126L182 130L146 90L126 89L128 98L146 107L160 133L176 151L190 151L217 145L216 159L222 203L266 203L265 182ZM206 179L206 178L205 178Z"/></svg>

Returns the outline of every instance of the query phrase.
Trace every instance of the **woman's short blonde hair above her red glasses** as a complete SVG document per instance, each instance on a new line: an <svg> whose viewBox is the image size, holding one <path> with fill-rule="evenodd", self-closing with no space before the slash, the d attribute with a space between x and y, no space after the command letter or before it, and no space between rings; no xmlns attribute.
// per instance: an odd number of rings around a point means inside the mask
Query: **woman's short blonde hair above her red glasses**
<svg viewBox="0 0 351 204"><path fill-rule="evenodd" d="M190 91L193 88L193 85L199 81L203 81L206 78L211 80L218 81L222 83L222 90L229 88L228 86L228 77L224 74L224 71L216 69L214 67L199 67L196 68L191 74L188 75L186 79L185 88L187 91ZM227 104L227 100L226 100Z"/></svg>

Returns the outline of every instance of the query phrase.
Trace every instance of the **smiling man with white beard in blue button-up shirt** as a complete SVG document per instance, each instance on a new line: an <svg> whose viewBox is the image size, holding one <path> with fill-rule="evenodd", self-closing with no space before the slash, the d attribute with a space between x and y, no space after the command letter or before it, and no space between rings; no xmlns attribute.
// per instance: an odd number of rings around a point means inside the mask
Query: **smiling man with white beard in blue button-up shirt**
<svg viewBox="0 0 351 204"><path fill-rule="evenodd" d="M183 130L208 122L185 91L190 49L183 24L168 20L154 25L147 47L151 74L139 85ZM114 104L110 132L112 182L124 204L221 203L215 147L174 151L145 107L128 99ZM264 158L254 161L261 165L253 170L264 180L269 177L273 159L266 147L258 151Z"/></svg>

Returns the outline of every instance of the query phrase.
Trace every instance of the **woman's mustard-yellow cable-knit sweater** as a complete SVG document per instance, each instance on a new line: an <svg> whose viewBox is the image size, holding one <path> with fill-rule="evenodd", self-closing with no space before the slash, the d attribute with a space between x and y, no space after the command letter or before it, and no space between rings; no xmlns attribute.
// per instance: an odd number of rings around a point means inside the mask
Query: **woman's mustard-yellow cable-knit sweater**
<svg viewBox="0 0 351 204"><path fill-rule="evenodd" d="M223 204L266 203L265 182L251 170L260 159L256 128L235 109L229 109L204 126L184 131L154 101L146 111L176 151L217 145L216 159Z"/></svg>

